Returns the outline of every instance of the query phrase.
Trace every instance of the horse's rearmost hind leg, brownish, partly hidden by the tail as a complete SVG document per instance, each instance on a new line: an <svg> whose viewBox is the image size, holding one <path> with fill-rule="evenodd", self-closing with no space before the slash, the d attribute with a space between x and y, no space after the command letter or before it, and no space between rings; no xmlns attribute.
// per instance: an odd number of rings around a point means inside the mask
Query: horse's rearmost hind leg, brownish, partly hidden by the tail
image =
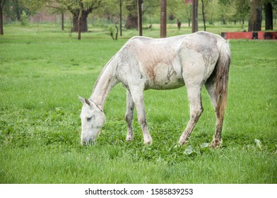
<svg viewBox="0 0 277 198"><path fill-rule="evenodd" d="M208 78L208 81L205 83L206 90L208 91L208 95L210 96L211 103L213 104L213 108L216 113L216 134L213 137L213 141L211 142L211 148L220 147L222 144L221 132L223 127L223 117L220 117L218 114L217 108L217 96L216 96L216 78L215 76L211 76Z"/></svg>

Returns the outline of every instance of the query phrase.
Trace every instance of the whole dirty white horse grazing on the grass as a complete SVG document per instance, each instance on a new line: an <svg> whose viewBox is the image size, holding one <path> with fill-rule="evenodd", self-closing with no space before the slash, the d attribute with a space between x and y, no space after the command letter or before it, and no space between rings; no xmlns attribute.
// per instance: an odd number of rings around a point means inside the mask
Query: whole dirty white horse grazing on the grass
<svg viewBox="0 0 277 198"><path fill-rule="evenodd" d="M212 33L153 39L132 37L106 64L93 93L83 103L81 112L81 144L94 144L105 123L104 103L117 83L126 88L126 141L133 139L132 120L136 107L145 144L152 139L146 124L143 91L187 87L190 120L179 144L187 142L203 107L201 88L205 84L216 112L216 134L211 147L221 145L223 115L227 102L230 47L226 40Z"/></svg>

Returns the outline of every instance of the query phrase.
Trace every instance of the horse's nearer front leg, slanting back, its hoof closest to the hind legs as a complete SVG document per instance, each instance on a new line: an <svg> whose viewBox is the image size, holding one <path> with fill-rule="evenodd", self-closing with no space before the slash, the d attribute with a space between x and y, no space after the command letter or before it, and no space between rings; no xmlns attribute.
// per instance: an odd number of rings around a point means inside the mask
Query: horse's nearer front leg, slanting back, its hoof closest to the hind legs
<svg viewBox="0 0 277 198"><path fill-rule="evenodd" d="M144 144L152 144L152 138L149 133L146 122L146 111L144 108L143 90L141 90L141 88L133 88L131 89L131 96L133 98L134 105L136 106L139 124L141 124Z"/></svg>

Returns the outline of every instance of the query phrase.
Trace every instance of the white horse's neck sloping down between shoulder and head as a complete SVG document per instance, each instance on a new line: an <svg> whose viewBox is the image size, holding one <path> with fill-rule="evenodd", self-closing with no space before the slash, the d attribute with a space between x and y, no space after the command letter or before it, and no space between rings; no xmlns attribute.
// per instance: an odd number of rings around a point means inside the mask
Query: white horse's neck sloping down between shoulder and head
<svg viewBox="0 0 277 198"><path fill-rule="evenodd" d="M114 57L107 63L104 69L102 69L93 88L93 93L90 95L90 99L102 109L104 108L104 103L110 90L118 83L117 78L114 76L116 65L113 59Z"/></svg>

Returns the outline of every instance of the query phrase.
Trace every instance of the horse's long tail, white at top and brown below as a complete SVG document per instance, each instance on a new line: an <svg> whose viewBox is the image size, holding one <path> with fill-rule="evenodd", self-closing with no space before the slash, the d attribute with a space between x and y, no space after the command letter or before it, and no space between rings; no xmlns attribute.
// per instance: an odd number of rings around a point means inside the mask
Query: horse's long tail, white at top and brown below
<svg viewBox="0 0 277 198"><path fill-rule="evenodd" d="M223 122L223 116L227 104L228 78L231 61L229 43L220 38L217 42L219 57L216 63L216 115Z"/></svg>

